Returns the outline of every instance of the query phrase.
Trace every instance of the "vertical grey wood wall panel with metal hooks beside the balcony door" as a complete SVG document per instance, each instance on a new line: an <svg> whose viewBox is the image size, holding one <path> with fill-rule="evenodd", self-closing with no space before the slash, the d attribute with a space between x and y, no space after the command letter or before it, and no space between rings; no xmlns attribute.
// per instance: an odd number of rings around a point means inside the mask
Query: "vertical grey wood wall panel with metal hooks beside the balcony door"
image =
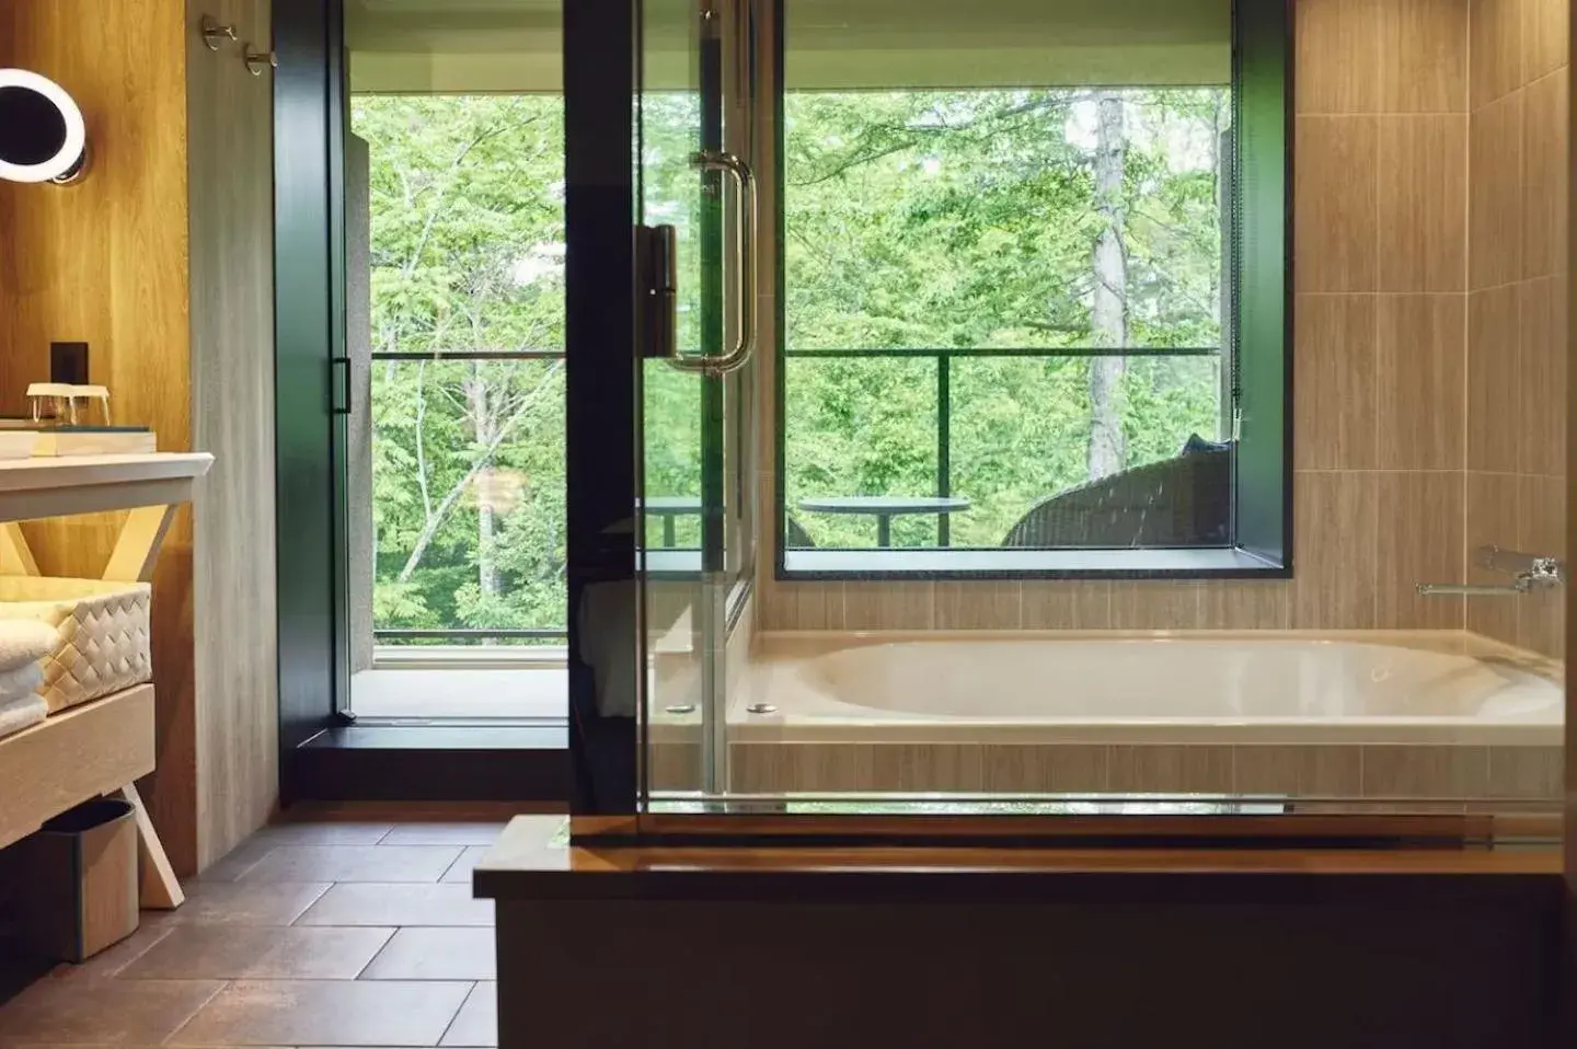
<svg viewBox="0 0 1577 1049"><path fill-rule="evenodd" d="M199 644L197 864L262 827L279 789L274 473L273 82L240 49L213 54L203 14L270 47L270 0L191 0L186 33L192 446L192 593L233 644ZM222 626L221 626L222 625ZM208 640L208 639L203 639Z"/></svg>

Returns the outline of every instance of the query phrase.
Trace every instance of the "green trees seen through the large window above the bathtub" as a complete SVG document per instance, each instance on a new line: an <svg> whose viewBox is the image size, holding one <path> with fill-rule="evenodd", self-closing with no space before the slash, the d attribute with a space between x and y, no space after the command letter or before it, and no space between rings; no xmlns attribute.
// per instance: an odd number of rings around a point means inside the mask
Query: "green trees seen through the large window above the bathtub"
<svg viewBox="0 0 1577 1049"><path fill-rule="evenodd" d="M871 521L815 495L938 484L935 358L897 349L1221 345L1219 90L806 93L785 99L785 492L820 546ZM817 358L815 350L866 350ZM948 368L954 546L1036 500L1216 435L1216 357L970 357ZM927 519L894 524L935 543Z"/></svg>

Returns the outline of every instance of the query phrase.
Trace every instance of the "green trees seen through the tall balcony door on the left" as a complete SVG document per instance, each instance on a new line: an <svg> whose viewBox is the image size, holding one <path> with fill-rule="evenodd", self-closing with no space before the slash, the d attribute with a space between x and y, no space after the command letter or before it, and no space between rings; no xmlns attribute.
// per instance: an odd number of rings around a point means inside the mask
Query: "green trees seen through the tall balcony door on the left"
<svg viewBox="0 0 1577 1049"><path fill-rule="evenodd" d="M355 101L372 202L374 622L563 623L563 104Z"/></svg>

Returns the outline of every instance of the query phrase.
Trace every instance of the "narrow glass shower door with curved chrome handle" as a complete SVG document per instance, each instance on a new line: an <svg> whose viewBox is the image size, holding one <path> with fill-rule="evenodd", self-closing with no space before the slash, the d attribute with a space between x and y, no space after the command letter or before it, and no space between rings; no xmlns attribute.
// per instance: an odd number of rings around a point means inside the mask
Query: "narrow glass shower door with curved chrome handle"
<svg viewBox="0 0 1577 1049"><path fill-rule="evenodd" d="M743 5L741 5L743 6ZM736 11L647 0L637 297L647 793L727 786L729 598L746 558L738 435L754 350L755 186L729 150Z"/></svg>

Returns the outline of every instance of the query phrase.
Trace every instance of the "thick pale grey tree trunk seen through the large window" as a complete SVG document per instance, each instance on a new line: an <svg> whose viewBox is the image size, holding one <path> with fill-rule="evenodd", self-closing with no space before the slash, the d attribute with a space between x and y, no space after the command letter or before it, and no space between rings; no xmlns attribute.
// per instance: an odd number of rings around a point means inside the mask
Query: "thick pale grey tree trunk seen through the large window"
<svg viewBox="0 0 1577 1049"><path fill-rule="evenodd" d="M1123 128L1123 98L1112 91L1096 95L1098 133L1094 147L1094 202L1102 226L1094 241L1094 303L1090 331L1098 347L1128 345L1128 252L1123 248L1123 175L1128 139ZM1123 439L1121 386L1126 361L1121 357L1090 358L1090 478L1117 473L1128 462Z"/></svg>

